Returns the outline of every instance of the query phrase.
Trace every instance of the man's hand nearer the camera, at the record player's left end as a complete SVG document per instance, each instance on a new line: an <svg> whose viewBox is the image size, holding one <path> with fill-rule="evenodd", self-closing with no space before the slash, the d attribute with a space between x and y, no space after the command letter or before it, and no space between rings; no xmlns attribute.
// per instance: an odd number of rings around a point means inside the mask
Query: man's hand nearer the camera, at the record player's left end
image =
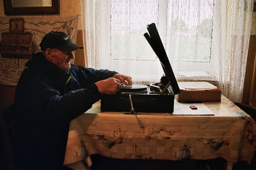
<svg viewBox="0 0 256 170"><path fill-rule="evenodd" d="M97 81L95 85L97 85L100 94L115 94L122 88L120 80L113 77Z"/></svg>

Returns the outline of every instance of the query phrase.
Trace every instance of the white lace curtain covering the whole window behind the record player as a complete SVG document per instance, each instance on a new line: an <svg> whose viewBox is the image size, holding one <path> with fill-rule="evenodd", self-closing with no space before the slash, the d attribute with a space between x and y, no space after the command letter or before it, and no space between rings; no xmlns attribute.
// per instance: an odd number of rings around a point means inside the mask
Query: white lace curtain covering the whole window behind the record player
<svg viewBox="0 0 256 170"><path fill-rule="evenodd" d="M81 0L86 66L159 81L163 69L143 37L157 29L178 81L212 81L241 101L253 0Z"/></svg>

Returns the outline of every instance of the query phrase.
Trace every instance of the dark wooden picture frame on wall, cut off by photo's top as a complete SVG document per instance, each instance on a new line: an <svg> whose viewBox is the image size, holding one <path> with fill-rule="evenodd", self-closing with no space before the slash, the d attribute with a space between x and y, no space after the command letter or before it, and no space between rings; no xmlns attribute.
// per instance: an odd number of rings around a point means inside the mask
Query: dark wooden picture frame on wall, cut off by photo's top
<svg viewBox="0 0 256 170"><path fill-rule="evenodd" d="M24 0L30 1L30 0ZM51 0L52 6L13 7L12 1L4 0L5 15L49 15L60 13L60 0Z"/></svg>

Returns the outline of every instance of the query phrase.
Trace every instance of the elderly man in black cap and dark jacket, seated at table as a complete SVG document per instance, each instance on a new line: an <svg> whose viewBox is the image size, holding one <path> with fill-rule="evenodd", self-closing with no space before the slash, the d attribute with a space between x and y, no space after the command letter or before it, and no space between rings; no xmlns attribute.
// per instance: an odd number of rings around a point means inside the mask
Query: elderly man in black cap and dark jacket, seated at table
<svg viewBox="0 0 256 170"><path fill-rule="evenodd" d="M15 92L16 160L22 169L65 169L70 120L102 94L115 94L132 80L115 71L70 64L72 51L83 46L65 32L49 32L40 47L42 52L26 63Z"/></svg>

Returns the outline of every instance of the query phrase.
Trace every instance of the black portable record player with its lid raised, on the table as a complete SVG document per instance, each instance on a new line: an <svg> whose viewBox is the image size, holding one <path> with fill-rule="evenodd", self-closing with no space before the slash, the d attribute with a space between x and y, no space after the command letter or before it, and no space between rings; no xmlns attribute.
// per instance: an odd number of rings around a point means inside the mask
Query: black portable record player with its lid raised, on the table
<svg viewBox="0 0 256 170"><path fill-rule="evenodd" d="M144 34L156 53L164 70L164 76L151 85L124 86L114 95L104 95L100 101L101 111L123 111L125 113L173 113L175 94L180 89L164 50L156 24L147 25Z"/></svg>

